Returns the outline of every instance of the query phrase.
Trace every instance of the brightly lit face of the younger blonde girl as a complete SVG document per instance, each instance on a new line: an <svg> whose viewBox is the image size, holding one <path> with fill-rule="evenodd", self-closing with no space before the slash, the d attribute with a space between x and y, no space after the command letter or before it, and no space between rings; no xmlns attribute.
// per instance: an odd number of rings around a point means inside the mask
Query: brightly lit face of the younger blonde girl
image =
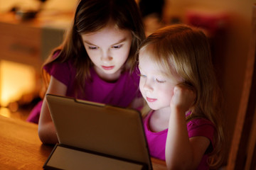
<svg viewBox="0 0 256 170"><path fill-rule="evenodd" d="M151 53L143 50L139 53L139 89L142 96L153 110L170 107L174 86L181 82L181 78L168 75L164 68L151 60Z"/></svg>

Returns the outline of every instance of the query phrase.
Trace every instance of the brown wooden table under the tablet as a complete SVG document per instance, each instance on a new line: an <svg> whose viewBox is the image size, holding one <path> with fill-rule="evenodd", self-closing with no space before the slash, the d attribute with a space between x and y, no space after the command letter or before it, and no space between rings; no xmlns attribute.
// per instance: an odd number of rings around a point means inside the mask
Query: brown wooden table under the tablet
<svg viewBox="0 0 256 170"><path fill-rule="evenodd" d="M0 115L0 169L43 169L53 145L43 145L38 125ZM164 161L151 158L153 169L166 169Z"/></svg>

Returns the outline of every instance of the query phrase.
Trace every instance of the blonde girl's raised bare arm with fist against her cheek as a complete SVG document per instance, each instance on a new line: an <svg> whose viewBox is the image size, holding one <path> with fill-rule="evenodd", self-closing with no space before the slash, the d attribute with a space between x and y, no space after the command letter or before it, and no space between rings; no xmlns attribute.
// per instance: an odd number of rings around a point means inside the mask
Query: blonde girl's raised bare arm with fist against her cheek
<svg viewBox="0 0 256 170"><path fill-rule="evenodd" d="M166 139L166 166L168 169L196 169L210 140L206 137L188 138L186 111L195 95L186 86L176 86L171 98L171 115Z"/></svg>

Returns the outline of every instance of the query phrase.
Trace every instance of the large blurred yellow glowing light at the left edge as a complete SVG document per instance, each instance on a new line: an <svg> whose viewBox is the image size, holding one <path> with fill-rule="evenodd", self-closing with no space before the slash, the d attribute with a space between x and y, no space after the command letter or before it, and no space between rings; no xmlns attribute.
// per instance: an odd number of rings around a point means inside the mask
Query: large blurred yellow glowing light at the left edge
<svg viewBox="0 0 256 170"><path fill-rule="evenodd" d="M1 60L0 62L0 104L8 106L23 94L36 88L36 71L26 64Z"/></svg>

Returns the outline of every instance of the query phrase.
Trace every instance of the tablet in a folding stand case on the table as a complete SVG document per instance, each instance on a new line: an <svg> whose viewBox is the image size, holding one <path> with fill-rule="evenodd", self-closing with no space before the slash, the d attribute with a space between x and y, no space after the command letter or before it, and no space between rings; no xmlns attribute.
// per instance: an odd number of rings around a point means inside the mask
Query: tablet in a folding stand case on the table
<svg viewBox="0 0 256 170"><path fill-rule="evenodd" d="M89 163L95 167L102 164L104 169L107 163L110 169L117 164L128 169L132 165L131 169L137 165L138 169L152 169L139 111L53 94L46 94L46 101L59 145L53 149L44 169L68 169L78 162L82 164L81 169ZM63 162L71 163L67 163L66 168L60 167Z"/></svg>

